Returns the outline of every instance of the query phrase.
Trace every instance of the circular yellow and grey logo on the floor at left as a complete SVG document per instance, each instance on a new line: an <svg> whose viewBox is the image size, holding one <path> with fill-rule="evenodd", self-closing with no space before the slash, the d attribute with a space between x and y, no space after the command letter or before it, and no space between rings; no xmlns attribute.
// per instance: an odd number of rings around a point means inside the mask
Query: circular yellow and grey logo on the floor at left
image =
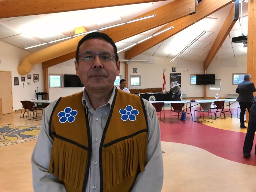
<svg viewBox="0 0 256 192"><path fill-rule="evenodd" d="M12 145L38 138L41 125L0 125L0 146Z"/></svg>

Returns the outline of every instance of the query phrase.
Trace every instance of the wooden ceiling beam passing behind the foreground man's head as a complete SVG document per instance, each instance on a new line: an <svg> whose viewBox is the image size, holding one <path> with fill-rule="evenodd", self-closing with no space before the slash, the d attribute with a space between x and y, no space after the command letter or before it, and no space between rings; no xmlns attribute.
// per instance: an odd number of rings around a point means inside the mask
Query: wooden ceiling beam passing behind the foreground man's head
<svg viewBox="0 0 256 192"><path fill-rule="evenodd" d="M171 11L175 10L175 11ZM121 25L115 28L110 28L102 31L112 37L114 42L121 41L139 33L154 29L171 21L177 20L186 15L195 13L196 3L195 0L175 0L166 5L163 5L156 10L148 11L133 19L145 17L156 13L155 17ZM51 67L58 63L62 63L75 57L75 50L72 53L54 58L42 63L43 69L45 67Z"/></svg>

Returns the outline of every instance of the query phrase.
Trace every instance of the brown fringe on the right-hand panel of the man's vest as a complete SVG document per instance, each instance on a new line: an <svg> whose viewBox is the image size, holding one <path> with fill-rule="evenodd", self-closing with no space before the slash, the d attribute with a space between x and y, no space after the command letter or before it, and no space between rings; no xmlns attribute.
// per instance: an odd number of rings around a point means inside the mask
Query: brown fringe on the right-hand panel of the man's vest
<svg viewBox="0 0 256 192"><path fill-rule="evenodd" d="M145 170L147 137L147 133L143 132L103 148L102 156L105 157L105 162L103 162L104 188L109 189L111 186L135 176L138 169L140 172Z"/></svg>

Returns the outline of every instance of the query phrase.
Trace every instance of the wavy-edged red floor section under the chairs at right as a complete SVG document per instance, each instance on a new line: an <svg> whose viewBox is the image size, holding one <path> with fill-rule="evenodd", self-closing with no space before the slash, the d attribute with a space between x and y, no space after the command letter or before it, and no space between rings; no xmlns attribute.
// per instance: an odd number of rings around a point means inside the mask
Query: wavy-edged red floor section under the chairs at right
<svg viewBox="0 0 256 192"><path fill-rule="evenodd" d="M232 114L236 118L236 109L232 110ZM160 115L158 116L160 120ZM172 117L171 124L170 110L165 110L165 123L160 121L161 141L193 145L224 159L256 166L256 156L253 155L255 146L249 159L243 157L245 133L210 127L191 121L188 114L186 116L185 124L177 116Z"/></svg>

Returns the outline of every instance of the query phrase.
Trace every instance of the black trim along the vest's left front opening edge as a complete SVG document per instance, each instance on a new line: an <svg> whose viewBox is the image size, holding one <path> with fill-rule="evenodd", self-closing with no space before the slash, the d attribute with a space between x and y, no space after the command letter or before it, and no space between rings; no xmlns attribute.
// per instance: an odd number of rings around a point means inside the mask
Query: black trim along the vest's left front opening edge
<svg viewBox="0 0 256 192"><path fill-rule="evenodd" d="M88 138L88 161L87 161L87 166L86 166L86 172L84 175L84 183L82 187L82 191L85 191L86 184L88 181L88 176L89 176L89 169L91 165L91 158L92 158L92 139L91 139L91 133L90 133L90 124L89 124L89 117L88 113L86 113L86 108L84 107L84 114L85 114L85 121L86 121L86 129L87 129L87 138Z"/></svg>

